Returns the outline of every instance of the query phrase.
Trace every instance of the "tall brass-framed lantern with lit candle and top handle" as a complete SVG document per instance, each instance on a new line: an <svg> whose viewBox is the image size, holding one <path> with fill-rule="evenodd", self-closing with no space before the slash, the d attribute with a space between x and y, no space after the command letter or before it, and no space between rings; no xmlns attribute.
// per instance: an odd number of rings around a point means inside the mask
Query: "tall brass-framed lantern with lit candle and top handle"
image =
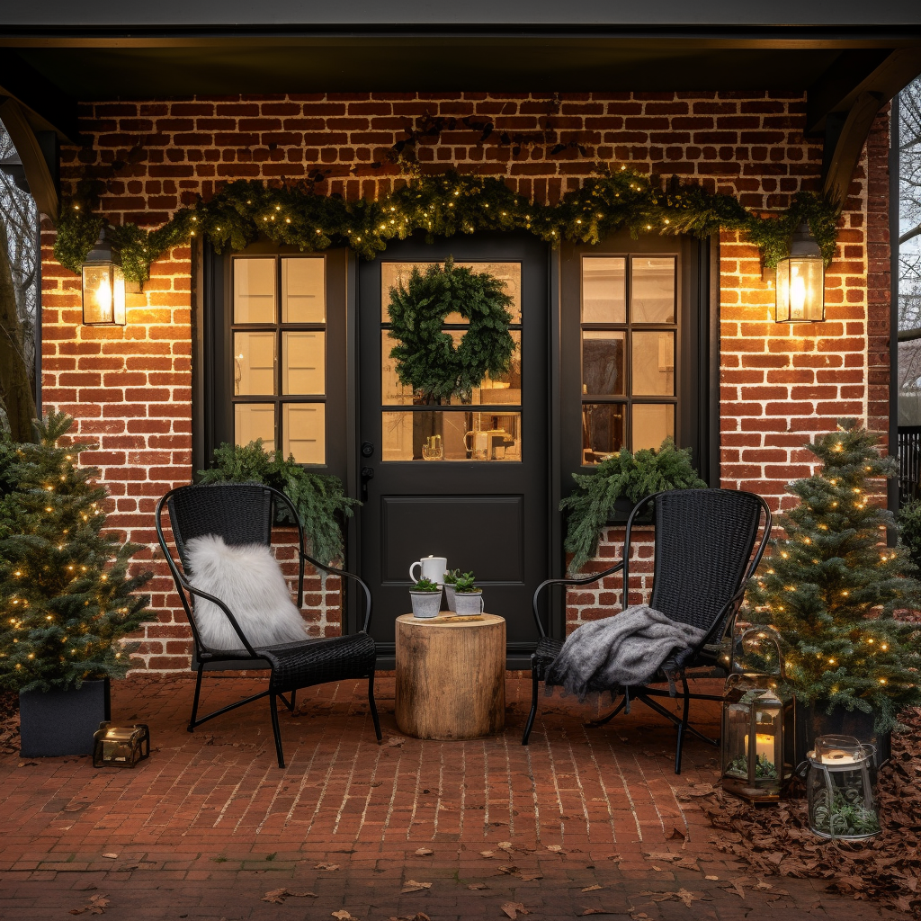
<svg viewBox="0 0 921 921"><path fill-rule="evenodd" d="M784 704L777 695L778 675L742 671L739 647L770 641L780 666L780 641L773 630L753 627L733 646L729 678L723 694L721 740L723 789L751 803L780 799L784 780Z"/></svg>

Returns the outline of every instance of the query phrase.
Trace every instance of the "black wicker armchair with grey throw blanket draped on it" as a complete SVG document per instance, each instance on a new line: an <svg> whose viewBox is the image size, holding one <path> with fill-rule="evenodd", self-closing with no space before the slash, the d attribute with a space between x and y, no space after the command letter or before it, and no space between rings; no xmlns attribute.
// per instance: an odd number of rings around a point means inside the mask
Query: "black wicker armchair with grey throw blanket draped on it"
<svg viewBox="0 0 921 921"><path fill-rule="evenodd" d="M668 688L635 686L629 688L629 695L631 699L668 717L678 729L675 774L681 774L682 771L682 745L688 731L711 745L719 744L719 740L710 739L689 726L688 718L692 700L722 700L722 697L691 694L686 671L704 667L712 672L721 664L717 661L720 643L732 629L745 594L745 585L754 575L771 533L771 510L764 499L760 495L729 489L670 490L648 496L635 506L627 519L624 554L619 563L586 577L547 579L538 586L534 592L534 619L537 621L540 638L530 659L533 688L522 745L528 744L534 717L537 715L538 684L563 648L563 641L548 636L544 629L538 607L542 590L552 585L590 585L617 572L623 573L624 587L629 586L630 541L634 519L637 514L644 512L649 503L654 507L653 520L656 525L655 563L649 606L667 614L673 621L693 624L705 630L706 635L694 650L692 658L678 672L683 697L681 717L653 699L668 696ZM762 532L761 539L755 549L759 530ZM668 677L660 672L650 684L667 681ZM624 699L611 714L590 724L592 726L603 726L616 717L627 703L626 689L605 690L624 693Z"/></svg>

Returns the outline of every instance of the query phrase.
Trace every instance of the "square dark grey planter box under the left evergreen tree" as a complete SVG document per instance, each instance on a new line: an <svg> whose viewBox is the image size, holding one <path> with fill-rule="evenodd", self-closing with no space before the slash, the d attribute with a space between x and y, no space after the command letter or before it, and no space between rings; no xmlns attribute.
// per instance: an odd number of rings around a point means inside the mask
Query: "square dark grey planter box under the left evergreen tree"
<svg viewBox="0 0 921 921"><path fill-rule="evenodd" d="M93 733L111 719L109 679L76 691L19 692L19 753L24 758L92 754Z"/></svg>

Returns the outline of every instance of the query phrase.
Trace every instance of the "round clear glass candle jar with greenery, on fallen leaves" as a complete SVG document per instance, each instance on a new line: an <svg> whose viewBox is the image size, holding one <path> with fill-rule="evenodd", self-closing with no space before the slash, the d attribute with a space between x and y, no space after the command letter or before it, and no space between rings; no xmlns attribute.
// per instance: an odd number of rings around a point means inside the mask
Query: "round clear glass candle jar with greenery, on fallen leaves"
<svg viewBox="0 0 921 921"><path fill-rule="evenodd" d="M880 833L873 801L876 750L852 736L819 736L809 752L809 824L821 838L858 841Z"/></svg>

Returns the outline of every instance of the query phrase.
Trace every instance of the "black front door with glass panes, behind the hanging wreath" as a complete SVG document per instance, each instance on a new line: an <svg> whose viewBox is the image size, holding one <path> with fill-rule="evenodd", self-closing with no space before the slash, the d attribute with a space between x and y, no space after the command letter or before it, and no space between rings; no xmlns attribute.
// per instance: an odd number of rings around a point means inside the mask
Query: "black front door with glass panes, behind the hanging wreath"
<svg viewBox="0 0 921 921"><path fill-rule="evenodd" d="M417 405L393 369L388 291L413 265L449 255L506 282L518 350L509 372L484 380L470 402ZM360 567L385 658L394 618L411 610L409 566L428 554L474 572L486 610L507 620L513 661L536 640L530 605L549 574L551 514L547 260L540 241L502 235L407 240L360 268ZM449 316L445 329L459 341L462 318Z"/></svg>

